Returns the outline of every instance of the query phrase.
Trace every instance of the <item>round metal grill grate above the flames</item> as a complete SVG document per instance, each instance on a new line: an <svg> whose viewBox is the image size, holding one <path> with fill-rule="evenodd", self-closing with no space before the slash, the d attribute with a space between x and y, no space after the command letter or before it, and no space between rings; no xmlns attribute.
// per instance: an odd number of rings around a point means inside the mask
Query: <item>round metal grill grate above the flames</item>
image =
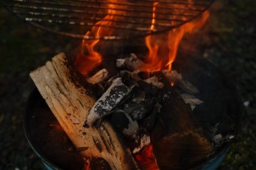
<svg viewBox="0 0 256 170"><path fill-rule="evenodd" d="M72 38L120 40L158 34L195 19L213 0L0 0L33 26ZM152 22L154 21L154 27ZM92 27L111 30L86 35Z"/></svg>

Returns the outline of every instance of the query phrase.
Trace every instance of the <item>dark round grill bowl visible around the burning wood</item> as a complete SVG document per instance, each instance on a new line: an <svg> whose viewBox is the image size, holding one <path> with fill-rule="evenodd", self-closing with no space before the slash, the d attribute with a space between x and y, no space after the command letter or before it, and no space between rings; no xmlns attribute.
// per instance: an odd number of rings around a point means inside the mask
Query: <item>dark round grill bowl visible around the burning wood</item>
<svg viewBox="0 0 256 170"><path fill-rule="evenodd" d="M205 107L195 110L199 122L208 118L222 123L224 114L234 121L234 130L228 132L236 136L241 124L242 105L236 86L226 77L212 62L204 58L198 58L193 54L179 54L175 60L173 69L183 75L200 91L200 99L203 99ZM203 113L205 112L205 113ZM204 124L201 124L203 127ZM61 130L53 113L42 99L38 90L34 89L28 98L26 114L24 116L24 132L33 151L42 159L47 169L82 169L83 159L75 151L71 141ZM55 136L53 138L53 136ZM49 139L50 138L50 139ZM220 166L232 140L218 147L201 165L193 169L212 170ZM56 151L55 151L56 150Z"/></svg>

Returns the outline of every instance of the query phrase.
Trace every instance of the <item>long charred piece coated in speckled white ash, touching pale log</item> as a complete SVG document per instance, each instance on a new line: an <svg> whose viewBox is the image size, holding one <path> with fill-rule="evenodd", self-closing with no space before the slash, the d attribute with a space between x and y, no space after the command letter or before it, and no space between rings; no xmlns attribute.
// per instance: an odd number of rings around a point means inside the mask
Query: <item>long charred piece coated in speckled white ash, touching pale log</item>
<svg viewBox="0 0 256 170"><path fill-rule="evenodd" d="M105 93L96 101L90 113L88 115L86 124L91 126L96 120L110 114L110 111L127 96L137 84L127 87L123 84L121 78L117 78L113 81L112 85L108 87Z"/></svg>

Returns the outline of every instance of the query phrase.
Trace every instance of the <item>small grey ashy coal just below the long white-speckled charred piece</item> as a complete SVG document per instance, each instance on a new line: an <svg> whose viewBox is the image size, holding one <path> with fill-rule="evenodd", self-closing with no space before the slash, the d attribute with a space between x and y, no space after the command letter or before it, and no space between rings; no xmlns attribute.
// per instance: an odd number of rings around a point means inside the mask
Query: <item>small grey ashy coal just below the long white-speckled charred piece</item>
<svg viewBox="0 0 256 170"><path fill-rule="evenodd" d="M139 124L137 121L134 121L131 116L129 116L129 114L125 113L125 116L129 119L129 125L128 128L124 128L122 132L125 134L125 136L131 136L131 138L135 138L135 135L139 130Z"/></svg>

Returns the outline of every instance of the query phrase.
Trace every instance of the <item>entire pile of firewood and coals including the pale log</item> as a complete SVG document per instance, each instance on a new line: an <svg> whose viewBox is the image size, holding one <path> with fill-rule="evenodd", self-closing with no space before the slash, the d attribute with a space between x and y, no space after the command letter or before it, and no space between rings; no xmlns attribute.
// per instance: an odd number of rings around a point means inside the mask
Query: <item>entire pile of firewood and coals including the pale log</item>
<svg viewBox="0 0 256 170"><path fill-rule="evenodd" d="M234 138L205 132L193 114L204 101L183 75L143 65L129 54L117 58L117 75L103 68L85 78L61 53L30 77L81 155L110 169L189 169Z"/></svg>

